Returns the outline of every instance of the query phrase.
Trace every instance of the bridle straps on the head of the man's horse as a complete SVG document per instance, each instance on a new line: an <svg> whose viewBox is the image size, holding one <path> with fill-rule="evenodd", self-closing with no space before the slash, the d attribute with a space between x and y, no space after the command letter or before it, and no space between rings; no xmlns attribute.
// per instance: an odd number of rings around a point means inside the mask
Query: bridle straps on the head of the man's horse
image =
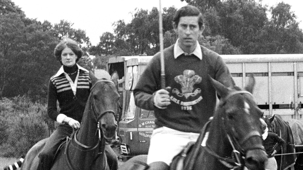
<svg viewBox="0 0 303 170"><path fill-rule="evenodd" d="M241 91L234 91L230 94L228 94L227 97L225 97L225 100L227 100L229 97L232 97L235 94L249 94L252 96L252 94L248 91L245 90L241 90ZM224 101L223 101L224 102ZM226 131L225 134L228 138L229 143L232 146L232 153L231 153L231 157L232 158L223 158L221 156L219 156L218 154L215 153L215 151L213 151L209 146L205 146L205 150L211 154L212 156L218 158L218 160L226 167L230 168L231 170L237 169L237 168L241 168L243 165L243 160L245 159L244 156L241 157L241 155L245 155L245 152L249 151L249 150L254 150L254 149L261 149L264 150L264 147L262 145L260 146L255 146L255 147L251 147L251 148L246 148L245 150L242 149L241 145L246 143L246 141L248 141L250 138L253 138L255 136L258 136L260 138L261 134L258 131L251 131L250 133L248 133L244 138L242 138L240 141L236 140L235 137L231 137L231 135Z"/></svg>

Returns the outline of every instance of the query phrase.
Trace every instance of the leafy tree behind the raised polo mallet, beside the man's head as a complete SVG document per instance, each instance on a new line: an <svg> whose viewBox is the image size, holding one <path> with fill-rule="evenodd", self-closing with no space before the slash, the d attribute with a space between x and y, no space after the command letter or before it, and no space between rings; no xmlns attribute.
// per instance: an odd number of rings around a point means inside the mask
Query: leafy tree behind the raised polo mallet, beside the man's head
<svg viewBox="0 0 303 170"><path fill-rule="evenodd" d="M173 29L172 19L176 10L173 6L163 9L163 32ZM113 48L119 49L120 54L154 55L160 49L158 18L158 9L154 7L150 12L135 9L133 19L128 24L118 20L114 23L116 39Z"/></svg>

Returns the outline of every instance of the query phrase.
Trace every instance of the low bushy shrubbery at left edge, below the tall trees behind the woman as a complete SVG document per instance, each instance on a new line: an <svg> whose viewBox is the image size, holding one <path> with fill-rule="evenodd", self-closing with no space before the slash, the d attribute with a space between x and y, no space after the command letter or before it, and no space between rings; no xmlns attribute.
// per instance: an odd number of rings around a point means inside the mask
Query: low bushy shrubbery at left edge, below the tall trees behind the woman
<svg viewBox="0 0 303 170"><path fill-rule="evenodd" d="M28 97L0 100L0 156L19 157L55 129L45 104Z"/></svg>

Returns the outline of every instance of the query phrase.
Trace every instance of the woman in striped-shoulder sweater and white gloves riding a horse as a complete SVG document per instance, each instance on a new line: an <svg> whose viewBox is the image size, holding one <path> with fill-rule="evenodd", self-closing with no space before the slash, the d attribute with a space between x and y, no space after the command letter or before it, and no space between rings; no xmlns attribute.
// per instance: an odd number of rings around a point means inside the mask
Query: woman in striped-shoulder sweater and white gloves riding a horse
<svg viewBox="0 0 303 170"><path fill-rule="evenodd" d="M57 121L59 126L48 138L39 155L41 162L41 166L38 166L39 170L48 170L52 167L55 153L62 140L72 134L73 128L80 128L92 86L88 70L76 64L83 55L77 42L71 39L62 40L55 47L54 53L62 66L49 81L48 115ZM60 112L58 112L57 100ZM105 145L105 153L111 170L117 169L117 158L112 148Z"/></svg>

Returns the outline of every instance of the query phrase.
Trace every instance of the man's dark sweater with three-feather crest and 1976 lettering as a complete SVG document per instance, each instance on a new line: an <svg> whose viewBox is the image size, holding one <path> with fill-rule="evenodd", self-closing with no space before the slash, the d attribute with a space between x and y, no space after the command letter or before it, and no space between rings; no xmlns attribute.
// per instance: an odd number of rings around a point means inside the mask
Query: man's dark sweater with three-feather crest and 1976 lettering
<svg viewBox="0 0 303 170"><path fill-rule="evenodd" d="M140 108L155 110L156 127L199 133L213 116L216 105L215 89L208 75L227 87L235 85L222 58L204 46L201 51L202 60L183 54L175 59L174 45L164 50L165 86L172 88L167 109L159 109L153 103L153 93L161 89L160 53L140 76L134 90L135 103Z"/></svg>

